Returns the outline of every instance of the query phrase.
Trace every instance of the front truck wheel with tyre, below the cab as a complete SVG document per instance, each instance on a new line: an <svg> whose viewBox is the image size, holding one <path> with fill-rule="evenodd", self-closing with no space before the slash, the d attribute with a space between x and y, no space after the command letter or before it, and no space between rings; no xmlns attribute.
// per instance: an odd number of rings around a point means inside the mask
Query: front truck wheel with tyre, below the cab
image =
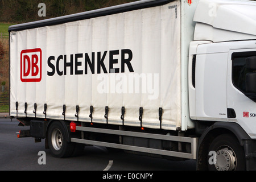
<svg viewBox="0 0 256 182"><path fill-rule="evenodd" d="M211 151L215 155L210 156ZM238 140L230 134L216 137L208 151L208 169L210 171L242 171L245 170L245 154ZM216 160L213 159L216 156ZM212 159L210 159L212 157Z"/></svg>

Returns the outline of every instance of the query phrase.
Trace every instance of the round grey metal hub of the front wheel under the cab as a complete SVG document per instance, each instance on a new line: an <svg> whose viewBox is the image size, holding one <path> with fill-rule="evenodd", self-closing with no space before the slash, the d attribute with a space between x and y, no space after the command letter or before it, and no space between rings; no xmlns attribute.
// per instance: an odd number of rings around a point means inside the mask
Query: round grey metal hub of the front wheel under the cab
<svg viewBox="0 0 256 182"><path fill-rule="evenodd" d="M236 155L229 147L221 148L216 152L215 167L218 171L232 171L236 169Z"/></svg>

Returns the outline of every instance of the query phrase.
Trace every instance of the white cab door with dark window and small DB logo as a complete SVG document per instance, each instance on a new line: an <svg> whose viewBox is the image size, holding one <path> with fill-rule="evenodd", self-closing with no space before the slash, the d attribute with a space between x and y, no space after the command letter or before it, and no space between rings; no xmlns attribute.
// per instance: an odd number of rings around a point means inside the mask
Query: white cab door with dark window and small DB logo
<svg viewBox="0 0 256 182"><path fill-rule="evenodd" d="M228 121L256 138L256 49L230 50L228 60Z"/></svg>

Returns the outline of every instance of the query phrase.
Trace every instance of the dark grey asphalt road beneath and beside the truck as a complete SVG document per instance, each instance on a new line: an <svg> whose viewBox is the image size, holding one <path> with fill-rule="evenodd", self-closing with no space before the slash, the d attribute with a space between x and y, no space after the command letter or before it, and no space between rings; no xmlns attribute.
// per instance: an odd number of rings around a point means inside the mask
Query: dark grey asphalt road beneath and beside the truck
<svg viewBox="0 0 256 182"><path fill-rule="evenodd" d="M17 138L16 132L25 127L18 121L0 118L0 171L193 171L194 160L174 162L108 151L105 147L88 146L80 156L53 158L44 148L44 139L35 143L34 138ZM45 155L40 151L44 151ZM42 158L45 156L45 158ZM45 164L44 164L44 163ZM39 164L43 163L43 164Z"/></svg>

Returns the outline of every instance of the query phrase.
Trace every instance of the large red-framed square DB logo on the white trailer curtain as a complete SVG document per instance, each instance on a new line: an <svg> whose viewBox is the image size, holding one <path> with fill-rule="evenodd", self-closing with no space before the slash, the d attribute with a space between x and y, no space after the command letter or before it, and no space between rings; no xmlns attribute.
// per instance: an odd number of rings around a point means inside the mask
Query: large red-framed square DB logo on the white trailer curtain
<svg viewBox="0 0 256 182"><path fill-rule="evenodd" d="M26 49L20 52L20 80L39 82L42 79L42 50Z"/></svg>

